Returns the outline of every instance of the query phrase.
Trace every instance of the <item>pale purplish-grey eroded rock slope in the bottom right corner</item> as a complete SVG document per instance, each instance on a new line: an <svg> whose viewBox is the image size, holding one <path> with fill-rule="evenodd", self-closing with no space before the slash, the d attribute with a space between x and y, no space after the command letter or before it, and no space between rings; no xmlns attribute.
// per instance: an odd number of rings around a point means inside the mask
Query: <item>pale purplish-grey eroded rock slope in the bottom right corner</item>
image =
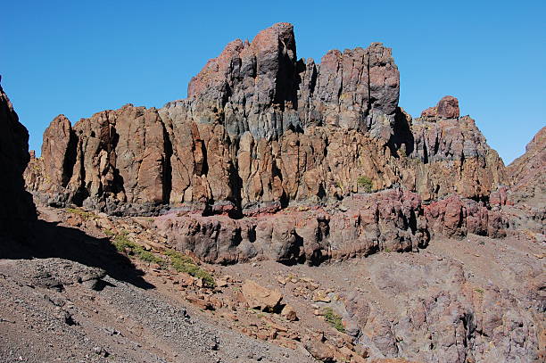
<svg viewBox="0 0 546 363"><path fill-rule="evenodd" d="M365 294L343 296L344 324L355 326L371 356L446 363L541 359L540 318L532 294L522 294L526 286L478 288L462 263L445 260L385 260L372 268L371 279L401 307L388 319Z"/></svg>

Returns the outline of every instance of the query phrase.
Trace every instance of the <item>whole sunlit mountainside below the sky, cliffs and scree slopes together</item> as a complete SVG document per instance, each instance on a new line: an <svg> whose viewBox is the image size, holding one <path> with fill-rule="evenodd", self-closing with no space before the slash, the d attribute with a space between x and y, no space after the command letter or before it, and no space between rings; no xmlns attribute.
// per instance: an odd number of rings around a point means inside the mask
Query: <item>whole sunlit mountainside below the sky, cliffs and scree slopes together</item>
<svg viewBox="0 0 546 363"><path fill-rule="evenodd" d="M382 45L296 60L277 24L186 100L54 120L24 175L37 243L0 260L0 358L546 357L543 130L505 169L454 97L398 107Z"/></svg>

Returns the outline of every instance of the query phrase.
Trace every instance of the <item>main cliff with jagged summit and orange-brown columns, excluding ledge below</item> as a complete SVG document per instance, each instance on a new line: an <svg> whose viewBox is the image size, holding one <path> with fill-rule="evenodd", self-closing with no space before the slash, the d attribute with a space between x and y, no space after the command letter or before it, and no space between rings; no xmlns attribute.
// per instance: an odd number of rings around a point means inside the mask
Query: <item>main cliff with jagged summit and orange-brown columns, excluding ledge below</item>
<svg viewBox="0 0 546 363"><path fill-rule="evenodd" d="M363 190L363 177L373 191L404 186L424 200L481 199L504 180L457 99L412 122L399 93L389 48L298 60L293 27L280 23L227 45L185 100L128 104L73 127L59 116L25 179L51 205L112 214L191 205L232 216L340 200Z"/></svg>

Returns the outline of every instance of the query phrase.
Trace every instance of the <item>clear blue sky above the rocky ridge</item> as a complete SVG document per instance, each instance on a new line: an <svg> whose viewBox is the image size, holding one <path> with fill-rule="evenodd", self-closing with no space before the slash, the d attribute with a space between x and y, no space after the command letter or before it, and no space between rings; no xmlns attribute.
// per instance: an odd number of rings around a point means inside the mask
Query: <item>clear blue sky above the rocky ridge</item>
<svg viewBox="0 0 546 363"><path fill-rule="evenodd" d="M393 48L400 105L459 98L506 163L546 125L545 1L6 1L0 74L30 148L49 122L125 103L161 107L227 42L294 23L299 57Z"/></svg>

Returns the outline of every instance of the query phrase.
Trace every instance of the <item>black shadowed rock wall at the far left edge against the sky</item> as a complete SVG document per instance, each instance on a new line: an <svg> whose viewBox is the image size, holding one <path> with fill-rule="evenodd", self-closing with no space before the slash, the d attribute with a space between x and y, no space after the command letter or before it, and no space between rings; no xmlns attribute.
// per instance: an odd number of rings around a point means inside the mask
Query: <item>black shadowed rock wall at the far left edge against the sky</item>
<svg viewBox="0 0 546 363"><path fill-rule="evenodd" d="M36 219L32 196L22 178L28 162L29 132L0 87L0 241L4 237L21 238L29 231L29 222Z"/></svg>

